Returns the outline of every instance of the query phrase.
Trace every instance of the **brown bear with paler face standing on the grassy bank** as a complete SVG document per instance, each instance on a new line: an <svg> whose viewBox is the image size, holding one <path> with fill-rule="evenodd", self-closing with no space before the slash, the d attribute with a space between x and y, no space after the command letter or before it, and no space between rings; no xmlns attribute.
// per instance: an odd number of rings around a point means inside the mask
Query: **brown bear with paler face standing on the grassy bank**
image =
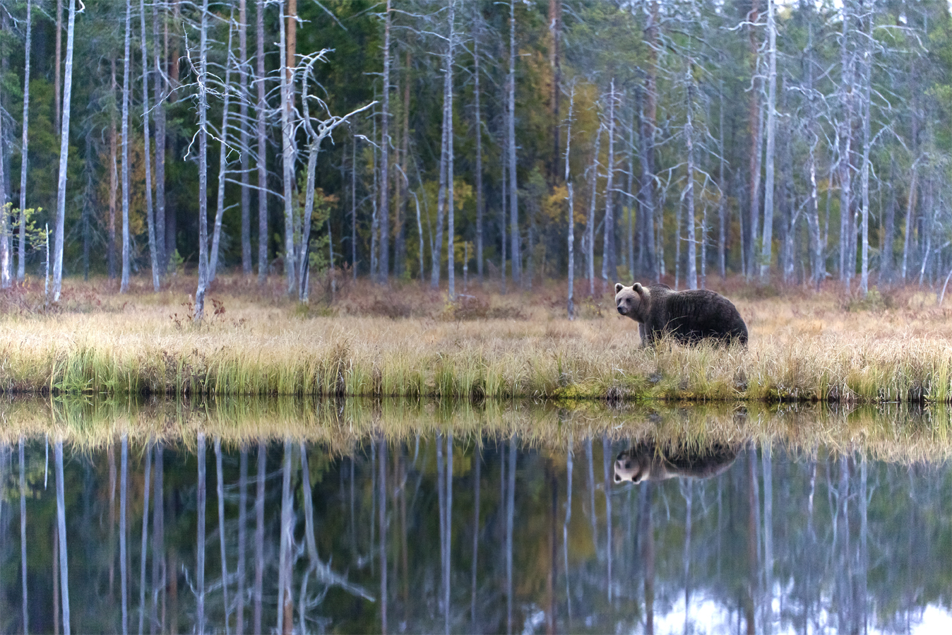
<svg viewBox="0 0 952 635"><path fill-rule="evenodd" d="M682 344L714 340L747 346L747 325L730 300L707 290L675 291L667 285L615 285L618 312L639 323L642 346L664 335Z"/></svg>

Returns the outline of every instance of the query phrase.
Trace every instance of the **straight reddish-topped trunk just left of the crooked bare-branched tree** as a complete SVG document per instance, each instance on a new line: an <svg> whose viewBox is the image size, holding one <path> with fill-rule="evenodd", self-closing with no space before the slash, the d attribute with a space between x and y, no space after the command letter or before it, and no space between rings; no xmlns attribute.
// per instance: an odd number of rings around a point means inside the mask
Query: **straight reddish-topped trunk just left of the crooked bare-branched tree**
<svg viewBox="0 0 952 635"><path fill-rule="evenodd" d="M285 196L285 276L288 279L288 295L294 292L297 277L294 271L294 67L297 42L297 0L288 0L288 12L282 2L279 18L281 27L281 147L282 176ZM287 28L285 19L287 17Z"/></svg>

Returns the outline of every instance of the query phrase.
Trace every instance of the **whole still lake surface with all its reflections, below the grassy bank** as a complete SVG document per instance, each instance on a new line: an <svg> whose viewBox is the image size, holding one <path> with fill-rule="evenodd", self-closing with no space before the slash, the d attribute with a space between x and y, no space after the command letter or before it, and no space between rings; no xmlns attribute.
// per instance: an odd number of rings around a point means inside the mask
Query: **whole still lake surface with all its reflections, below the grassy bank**
<svg viewBox="0 0 952 635"><path fill-rule="evenodd" d="M3 632L952 632L945 412L0 414Z"/></svg>

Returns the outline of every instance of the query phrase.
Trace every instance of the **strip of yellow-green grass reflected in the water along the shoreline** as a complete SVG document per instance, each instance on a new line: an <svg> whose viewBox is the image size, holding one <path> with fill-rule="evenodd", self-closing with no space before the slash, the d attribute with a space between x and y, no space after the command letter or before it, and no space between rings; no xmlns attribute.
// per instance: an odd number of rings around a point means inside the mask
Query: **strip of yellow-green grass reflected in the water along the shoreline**
<svg viewBox="0 0 952 635"><path fill-rule="evenodd" d="M823 404L677 407L581 402L229 398L227 400L90 400L18 398L0 403L0 446L25 438L62 438L93 450L118 440L163 441L193 447L196 434L227 446L259 440L319 443L350 454L377 439L409 443L451 432L458 441L491 443L516 437L540 451L582 450L585 439L606 436L667 448L717 443L783 446L806 455L818 448L860 452L899 463L952 458L952 409L944 405L830 407Z"/></svg>

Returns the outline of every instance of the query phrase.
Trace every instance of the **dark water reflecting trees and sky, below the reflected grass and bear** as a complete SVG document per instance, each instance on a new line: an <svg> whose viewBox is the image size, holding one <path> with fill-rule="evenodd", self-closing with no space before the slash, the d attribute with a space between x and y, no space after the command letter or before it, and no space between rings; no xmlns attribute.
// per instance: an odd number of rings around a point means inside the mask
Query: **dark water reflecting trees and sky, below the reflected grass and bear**
<svg viewBox="0 0 952 635"><path fill-rule="evenodd" d="M607 438L51 445L55 491L42 439L0 454L4 631L52 631L53 598L63 632L150 633L889 631L952 600L945 464L748 442L711 478L616 485Z"/></svg>

